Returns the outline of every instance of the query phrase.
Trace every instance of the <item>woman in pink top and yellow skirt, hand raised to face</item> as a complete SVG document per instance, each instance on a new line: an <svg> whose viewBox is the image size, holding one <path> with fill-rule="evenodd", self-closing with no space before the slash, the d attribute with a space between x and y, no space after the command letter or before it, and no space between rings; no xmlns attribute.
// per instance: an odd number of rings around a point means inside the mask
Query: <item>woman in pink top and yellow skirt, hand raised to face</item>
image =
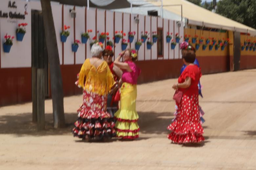
<svg viewBox="0 0 256 170"><path fill-rule="evenodd" d="M120 62L123 57L124 62ZM122 69L121 105L115 113L117 137L136 139L139 137L138 113L136 111L137 79L140 69L134 61L137 60L135 50L127 49L119 54L114 64Z"/></svg>

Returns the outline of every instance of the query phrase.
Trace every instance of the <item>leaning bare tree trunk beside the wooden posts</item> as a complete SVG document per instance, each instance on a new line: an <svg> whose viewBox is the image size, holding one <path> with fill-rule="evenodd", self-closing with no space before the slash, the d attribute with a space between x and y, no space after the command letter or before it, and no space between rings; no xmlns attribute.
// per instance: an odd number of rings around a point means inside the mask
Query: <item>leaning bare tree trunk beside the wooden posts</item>
<svg viewBox="0 0 256 170"><path fill-rule="evenodd" d="M63 107L63 85L59 64L59 52L53 23L50 0L41 0L48 60L50 65L51 91L53 99L54 128L65 127Z"/></svg>

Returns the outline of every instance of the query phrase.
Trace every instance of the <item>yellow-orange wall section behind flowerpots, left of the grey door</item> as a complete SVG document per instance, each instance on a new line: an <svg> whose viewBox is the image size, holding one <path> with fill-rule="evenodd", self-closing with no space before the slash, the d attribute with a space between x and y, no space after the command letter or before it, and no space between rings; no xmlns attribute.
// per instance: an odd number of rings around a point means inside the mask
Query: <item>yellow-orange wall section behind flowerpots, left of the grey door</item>
<svg viewBox="0 0 256 170"><path fill-rule="evenodd" d="M219 39L226 39L228 38L228 33L220 33L220 32L214 32L214 31L205 31L205 30L200 30L200 29L190 29L190 28L185 28L184 29L184 35L191 35L190 37L190 41L192 42L192 37L194 37L194 35L198 35L198 39L199 40L201 37L204 38L215 38L217 40ZM233 42L233 40L231 41ZM203 42L203 44L205 44L205 40ZM193 44L195 47L195 44ZM232 53L233 54L233 53ZM225 49L222 51L221 47L218 50L215 50L215 47L213 47L213 49L210 51L209 50L209 45L207 45L206 49L203 50L203 45L200 45L199 49L196 52L196 56L198 57L206 57L206 56L228 56L229 55L229 45L227 45L225 47Z"/></svg>

